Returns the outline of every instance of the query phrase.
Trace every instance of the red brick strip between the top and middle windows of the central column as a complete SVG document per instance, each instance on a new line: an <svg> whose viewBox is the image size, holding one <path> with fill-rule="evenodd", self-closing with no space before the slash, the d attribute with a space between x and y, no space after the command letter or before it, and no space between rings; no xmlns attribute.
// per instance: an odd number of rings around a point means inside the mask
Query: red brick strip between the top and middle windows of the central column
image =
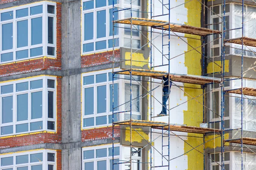
<svg viewBox="0 0 256 170"><path fill-rule="evenodd" d="M113 51L105 51L102 53L89 54L81 57L81 67L91 67L96 65L103 65L112 63L111 56L113 55ZM120 58L120 50L115 50L114 53L115 58Z"/></svg>

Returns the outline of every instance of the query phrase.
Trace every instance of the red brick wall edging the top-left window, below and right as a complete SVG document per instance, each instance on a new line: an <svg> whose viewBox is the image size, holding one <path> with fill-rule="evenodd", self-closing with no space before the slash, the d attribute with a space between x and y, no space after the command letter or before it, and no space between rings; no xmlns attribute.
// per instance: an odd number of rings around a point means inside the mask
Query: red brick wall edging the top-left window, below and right
<svg viewBox="0 0 256 170"><path fill-rule="evenodd" d="M9 0L11 1L11 0ZM1 4L2 1L0 1ZM56 59L38 58L10 64L0 65L0 77L12 76L17 74L31 73L41 70L61 70L61 3L57 5L57 56Z"/></svg>

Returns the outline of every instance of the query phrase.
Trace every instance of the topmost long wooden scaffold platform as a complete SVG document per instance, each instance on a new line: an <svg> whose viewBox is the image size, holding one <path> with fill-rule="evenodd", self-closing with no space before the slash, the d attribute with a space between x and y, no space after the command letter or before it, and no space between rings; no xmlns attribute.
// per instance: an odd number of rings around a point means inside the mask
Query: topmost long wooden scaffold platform
<svg viewBox="0 0 256 170"><path fill-rule="evenodd" d="M122 23L122 24L131 24L131 18L116 20L114 22ZM200 28L200 27L194 27L194 26L187 26L187 25L179 25L179 24L169 23L167 21L152 20L152 19L146 19L146 18L132 17L132 24L138 25L138 26L150 26L150 27L154 27L157 29L163 28L164 30L169 29L169 25L170 25L170 29L174 32L200 35L200 36L221 33L221 31L218 31L218 30L212 30L212 29L208 29L208 28Z"/></svg>

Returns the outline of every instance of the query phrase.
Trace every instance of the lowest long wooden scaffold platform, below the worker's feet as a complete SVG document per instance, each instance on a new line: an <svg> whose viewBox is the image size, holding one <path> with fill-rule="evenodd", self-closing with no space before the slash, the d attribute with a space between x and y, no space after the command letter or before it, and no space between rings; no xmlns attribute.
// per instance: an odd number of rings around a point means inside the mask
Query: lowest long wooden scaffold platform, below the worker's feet
<svg viewBox="0 0 256 170"><path fill-rule="evenodd" d="M130 121L122 121L122 122L114 122L115 125L130 125ZM131 121L132 126L144 126L144 127L152 127L154 129L164 129L168 130L170 127L171 131L177 131L177 132L187 132L187 133L217 133L221 130L218 129L211 129L211 128L204 128L204 127L195 127L195 126L186 126L186 125L175 125L165 122L154 122L154 121L146 121L146 120L132 120Z"/></svg>

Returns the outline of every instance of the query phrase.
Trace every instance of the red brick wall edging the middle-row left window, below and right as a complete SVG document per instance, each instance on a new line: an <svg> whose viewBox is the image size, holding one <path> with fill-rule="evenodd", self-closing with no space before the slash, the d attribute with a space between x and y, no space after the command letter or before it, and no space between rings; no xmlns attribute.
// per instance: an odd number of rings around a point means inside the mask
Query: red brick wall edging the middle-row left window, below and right
<svg viewBox="0 0 256 170"><path fill-rule="evenodd" d="M61 77L57 77L57 133L38 133L0 139L0 148L41 143L61 143Z"/></svg>

